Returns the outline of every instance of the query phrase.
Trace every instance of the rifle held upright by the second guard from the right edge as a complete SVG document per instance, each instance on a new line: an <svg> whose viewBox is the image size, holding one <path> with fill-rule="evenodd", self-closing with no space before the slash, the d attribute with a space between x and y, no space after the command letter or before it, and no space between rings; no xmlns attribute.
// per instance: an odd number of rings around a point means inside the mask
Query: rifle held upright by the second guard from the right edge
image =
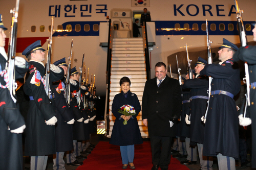
<svg viewBox="0 0 256 170"><path fill-rule="evenodd" d="M211 43L212 41L209 40L209 31L208 31L208 21L206 19L206 36L207 36L207 54L208 54L208 64L212 64L212 57L211 57ZM208 90L208 101L207 101L207 109L204 115L204 118L206 118L207 113L208 113L208 108L209 108L209 101L210 101L210 92L211 92L211 83L212 77L209 76L209 90Z"/></svg>

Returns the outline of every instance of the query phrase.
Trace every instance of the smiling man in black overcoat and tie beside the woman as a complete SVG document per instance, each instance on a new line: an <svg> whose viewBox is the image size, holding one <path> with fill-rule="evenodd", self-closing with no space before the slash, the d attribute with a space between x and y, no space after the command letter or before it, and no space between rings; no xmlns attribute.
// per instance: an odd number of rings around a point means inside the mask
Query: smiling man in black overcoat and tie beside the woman
<svg viewBox="0 0 256 170"><path fill-rule="evenodd" d="M142 97L142 120L148 125L151 138L153 170L159 166L168 169L170 142L181 113L179 81L166 75L166 65L162 62L156 64L155 72L156 77L146 81Z"/></svg>

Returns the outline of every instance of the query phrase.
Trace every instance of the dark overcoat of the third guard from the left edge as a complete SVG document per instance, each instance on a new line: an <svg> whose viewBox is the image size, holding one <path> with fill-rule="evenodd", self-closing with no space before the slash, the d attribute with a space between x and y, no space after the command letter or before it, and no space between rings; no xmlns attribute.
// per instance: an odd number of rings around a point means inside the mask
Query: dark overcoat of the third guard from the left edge
<svg viewBox="0 0 256 170"><path fill-rule="evenodd" d="M56 152L65 152L73 150L73 125L67 124L72 120L73 114L67 105L64 90L65 79L59 80L53 83L52 92L55 96L55 106L56 106L56 117L58 119L55 124L55 142L56 142Z"/></svg>

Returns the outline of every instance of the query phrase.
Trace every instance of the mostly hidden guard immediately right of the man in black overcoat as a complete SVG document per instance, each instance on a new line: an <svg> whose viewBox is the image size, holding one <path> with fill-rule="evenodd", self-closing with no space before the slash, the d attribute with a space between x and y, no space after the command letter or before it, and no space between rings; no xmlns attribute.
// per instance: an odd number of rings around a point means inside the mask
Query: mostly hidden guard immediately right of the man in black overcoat
<svg viewBox="0 0 256 170"><path fill-rule="evenodd" d="M196 71L193 69L193 79L196 77ZM182 77L183 78L183 77ZM189 79L188 71L186 73L186 80ZM183 83L183 82L182 82ZM197 164L197 145L190 145L190 125L186 124L185 117L190 113L190 89L182 89L182 113L181 113L181 139L185 140L185 148L187 152L187 159L181 161L183 165ZM185 139L184 139L185 138Z"/></svg>

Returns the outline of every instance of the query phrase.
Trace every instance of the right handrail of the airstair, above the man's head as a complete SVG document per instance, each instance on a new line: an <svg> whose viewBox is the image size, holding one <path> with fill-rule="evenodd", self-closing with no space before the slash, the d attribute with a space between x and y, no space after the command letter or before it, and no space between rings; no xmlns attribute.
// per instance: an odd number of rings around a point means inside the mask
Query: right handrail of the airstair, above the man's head
<svg viewBox="0 0 256 170"><path fill-rule="evenodd" d="M146 80L150 80L151 79L150 55L148 54L148 41L147 41L147 30L146 30L145 20L144 20L144 26L142 27L142 38L143 38L143 47L144 47L145 64L146 64Z"/></svg>

